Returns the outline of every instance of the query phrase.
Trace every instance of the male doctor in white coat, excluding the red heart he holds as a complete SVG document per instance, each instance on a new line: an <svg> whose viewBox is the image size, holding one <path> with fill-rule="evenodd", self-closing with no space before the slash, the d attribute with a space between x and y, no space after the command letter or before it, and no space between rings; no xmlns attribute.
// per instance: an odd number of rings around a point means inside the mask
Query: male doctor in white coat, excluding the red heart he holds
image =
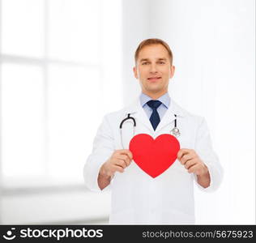
<svg viewBox="0 0 256 243"><path fill-rule="evenodd" d="M103 118L84 166L85 184L93 191L111 190L109 224L194 224L194 182L201 190L213 191L222 180L207 123L169 96L175 67L167 43L143 40L134 58L134 76L142 92L134 104ZM135 119L135 129L128 120L121 132L120 122L128 114ZM164 173L150 177L134 163L130 140L136 134L153 139L170 134L175 119L181 133L177 160Z"/></svg>

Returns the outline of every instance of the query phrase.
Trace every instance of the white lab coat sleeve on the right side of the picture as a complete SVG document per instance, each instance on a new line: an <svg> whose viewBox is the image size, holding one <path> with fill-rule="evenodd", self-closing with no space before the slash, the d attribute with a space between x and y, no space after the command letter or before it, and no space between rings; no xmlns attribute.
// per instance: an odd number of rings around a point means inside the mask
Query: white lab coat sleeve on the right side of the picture
<svg viewBox="0 0 256 243"><path fill-rule="evenodd" d="M201 160L203 160L203 163L207 165L211 177L210 185L207 188L203 188L203 186L198 184L197 176L194 174L198 188L206 192L217 190L223 178L223 168L220 165L218 156L215 154L215 151L213 151L210 132L204 118L202 118L202 122L198 127L195 151Z"/></svg>

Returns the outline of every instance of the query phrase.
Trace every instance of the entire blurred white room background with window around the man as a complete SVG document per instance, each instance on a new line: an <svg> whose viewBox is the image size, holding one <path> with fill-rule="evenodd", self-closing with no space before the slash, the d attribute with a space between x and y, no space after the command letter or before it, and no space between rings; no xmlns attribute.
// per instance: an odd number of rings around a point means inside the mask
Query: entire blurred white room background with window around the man
<svg viewBox="0 0 256 243"><path fill-rule="evenodd" d="M195 187L196 224L255 224L254 0L0 0L0 224L108 224L83 165L105 113L139 96L134 51L152 37L224 167L220 190Z"/></svg>

